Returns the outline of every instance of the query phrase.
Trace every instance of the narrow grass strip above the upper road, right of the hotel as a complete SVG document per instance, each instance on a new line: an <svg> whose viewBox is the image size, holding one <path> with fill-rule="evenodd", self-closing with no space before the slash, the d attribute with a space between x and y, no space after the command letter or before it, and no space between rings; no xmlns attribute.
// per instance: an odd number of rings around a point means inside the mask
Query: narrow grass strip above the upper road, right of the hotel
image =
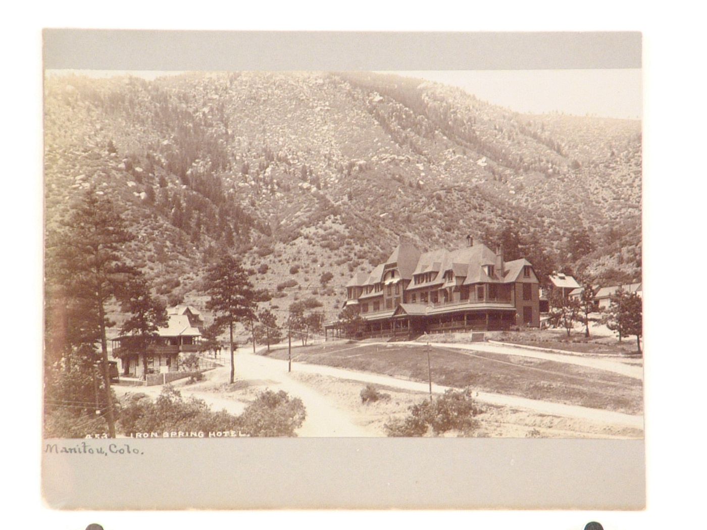
<svg viewBox="0 0 707 530"><path fill-rule="evenodd" d="M638 353L635 336L624 338L619 342L613 337L590 336L587 338L583 333L576 331L567 336L565 331L525 330L499 331L493 334L493 340L522 346L538 346L540 348L553 348L579 353L604 355L631 355Z"/></svg>

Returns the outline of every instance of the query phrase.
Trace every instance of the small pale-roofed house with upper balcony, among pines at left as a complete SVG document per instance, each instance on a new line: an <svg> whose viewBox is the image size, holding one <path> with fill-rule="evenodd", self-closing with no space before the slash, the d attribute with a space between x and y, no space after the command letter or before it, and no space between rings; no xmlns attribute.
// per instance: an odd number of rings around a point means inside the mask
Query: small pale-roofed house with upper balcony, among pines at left
<svg viewBox="0 0 707 530"><path fill-rule="evenodd" d="M204 320L194 307L177 305L167 310L167 326L158 329L144 353L124 353L128 336L112 339L113 356L120 358L124 377L139 377L179 370L179 354L199 351ZM147 371L146 371L147 368Z"/></svg>

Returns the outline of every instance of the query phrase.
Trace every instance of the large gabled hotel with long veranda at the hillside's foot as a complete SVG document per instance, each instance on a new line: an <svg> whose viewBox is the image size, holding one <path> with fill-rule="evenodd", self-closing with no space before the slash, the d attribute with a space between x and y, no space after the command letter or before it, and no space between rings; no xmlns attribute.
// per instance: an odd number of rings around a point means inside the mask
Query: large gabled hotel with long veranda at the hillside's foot
<svg viewBox="0 0 707 530"><path fill-rule="evenodd" d="M344 307L363 319L362 337L411 338L423 333L508 329L540 324L539 283L525 259L504 261L467 237L467 246L420 252L402 242L385 263L356 273ZM341 329L325 324L327 334Z"/></svg>

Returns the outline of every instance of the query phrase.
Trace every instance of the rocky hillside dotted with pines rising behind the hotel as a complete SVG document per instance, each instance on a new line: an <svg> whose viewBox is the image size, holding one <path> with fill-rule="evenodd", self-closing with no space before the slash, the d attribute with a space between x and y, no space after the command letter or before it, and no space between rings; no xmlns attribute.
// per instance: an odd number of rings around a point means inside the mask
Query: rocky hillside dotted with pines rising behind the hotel
<svg viewBox="0 0 707 530"><path fill-rule="evenodd" d="M272 306L314 295L334 315L400 237L641 276L641 122L518 114L399 76L49 76L47 240L86 189L119 205L157 293L201 307L205 267L233 252Z"/></svg>

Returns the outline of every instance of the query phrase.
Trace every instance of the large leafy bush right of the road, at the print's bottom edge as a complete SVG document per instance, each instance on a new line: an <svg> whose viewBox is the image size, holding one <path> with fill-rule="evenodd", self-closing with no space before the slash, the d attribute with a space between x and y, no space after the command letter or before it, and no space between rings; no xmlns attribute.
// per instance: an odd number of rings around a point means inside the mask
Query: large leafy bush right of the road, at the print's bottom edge
<svg viewBox="0 0 707 530"><path fill-rule="evenodd" d="M402 420L391 420L384 425L388 436L425 436L430 431L438 436L456 430L461 436L470 436L479 427L474 419L483 410L472 397L472 389L448 389L434 401L425 400L409 408Z"/></svg>

